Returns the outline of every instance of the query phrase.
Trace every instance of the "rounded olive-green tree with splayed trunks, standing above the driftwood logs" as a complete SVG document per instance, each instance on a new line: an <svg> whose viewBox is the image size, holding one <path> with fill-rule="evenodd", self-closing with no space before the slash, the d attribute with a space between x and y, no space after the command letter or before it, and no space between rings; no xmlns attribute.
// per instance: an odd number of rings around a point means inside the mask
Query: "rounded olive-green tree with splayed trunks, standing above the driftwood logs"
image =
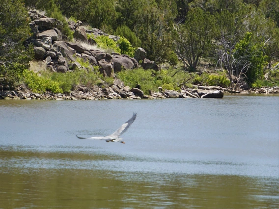
<svg viewBox="0 0 279 209"><path fill-rule="evenodd" d="M201 57L207 57L211 51L215 34L214 17L199 8L190 10L185 24L175 31L175 52L191 71L196 70Z"/></svg>

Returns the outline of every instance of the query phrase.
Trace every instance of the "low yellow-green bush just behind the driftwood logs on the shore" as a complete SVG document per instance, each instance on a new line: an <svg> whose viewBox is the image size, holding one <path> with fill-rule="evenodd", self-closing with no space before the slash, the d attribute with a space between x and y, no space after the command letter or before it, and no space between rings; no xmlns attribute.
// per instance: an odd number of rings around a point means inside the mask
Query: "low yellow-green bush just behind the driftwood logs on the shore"
<svg viewBox="0 0 279 209"><path fill-rule="evenodd" d="M221 74L208 74L202 73L200 76L196 75L194 78L194 84L200 84L204 86L220 86L228 87L230 80L225 76L224 73Z"/></svg>

